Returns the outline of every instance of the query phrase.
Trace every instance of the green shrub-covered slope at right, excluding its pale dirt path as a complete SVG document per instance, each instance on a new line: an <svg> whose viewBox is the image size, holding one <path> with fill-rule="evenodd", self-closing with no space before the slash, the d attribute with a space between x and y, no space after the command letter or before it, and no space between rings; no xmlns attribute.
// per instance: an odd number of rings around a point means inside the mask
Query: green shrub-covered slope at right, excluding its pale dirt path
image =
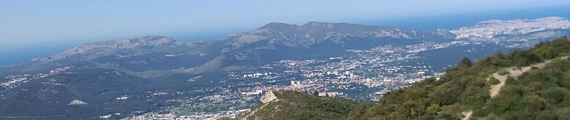
<svg viewBox="0 0 570 120"><path fill-rule="evenodd" d="M545 68L532 68L508 78L498 96L490 97L496 80L487 78L506 67L524 67L570 53L570 39L542 42L528 50L497 53L471 64L464 59L440 80L386 93L380 104L354 109L342 119L570 119L570 61L555 60ZM508 74L508 73L500 73Z"/></svg>

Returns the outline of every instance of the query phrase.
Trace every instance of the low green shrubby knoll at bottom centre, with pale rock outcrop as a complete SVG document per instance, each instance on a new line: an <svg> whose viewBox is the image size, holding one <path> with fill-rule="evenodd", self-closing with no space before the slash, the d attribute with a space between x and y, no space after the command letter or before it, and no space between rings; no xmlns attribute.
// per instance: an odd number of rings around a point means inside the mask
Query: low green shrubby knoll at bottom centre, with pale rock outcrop
<svg viewBox="0 0 570 120"><path fill-rule="evenodd" d="M250 112L242 115L247 119L339 119L353 107L368 107L370 104L344 98L320 97L300 92L283 90L274 92L279 99L267 105L259 104Z"/></svg>

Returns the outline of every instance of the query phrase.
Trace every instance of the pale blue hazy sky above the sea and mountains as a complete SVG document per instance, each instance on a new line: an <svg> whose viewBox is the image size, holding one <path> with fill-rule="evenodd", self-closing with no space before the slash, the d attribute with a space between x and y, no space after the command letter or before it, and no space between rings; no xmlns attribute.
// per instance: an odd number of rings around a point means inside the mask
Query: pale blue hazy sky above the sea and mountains
<svg viewBox="0 0 570 120"><path fill-rule="evenodd" d="M0 1L0 47L570 5L568 0ZM378 24L381 25L381 24Z"/></svg>

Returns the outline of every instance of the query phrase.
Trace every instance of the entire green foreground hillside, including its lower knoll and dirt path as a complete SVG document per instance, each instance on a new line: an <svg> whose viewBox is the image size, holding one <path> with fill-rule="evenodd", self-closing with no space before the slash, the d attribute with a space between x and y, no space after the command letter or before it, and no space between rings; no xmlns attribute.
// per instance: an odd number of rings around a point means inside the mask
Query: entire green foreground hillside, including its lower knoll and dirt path
<svg viewBox="0 0 570 120"><path fill-rule="evenodd" d="M569 53L570 39L564 37L475 63L465 58L439 80L427 78L386 93L377 105L284 92L280 97L294 101L263 108L260 104L252 110L258 113L246 115L256 114L247 119L570 119Z"/></svg>

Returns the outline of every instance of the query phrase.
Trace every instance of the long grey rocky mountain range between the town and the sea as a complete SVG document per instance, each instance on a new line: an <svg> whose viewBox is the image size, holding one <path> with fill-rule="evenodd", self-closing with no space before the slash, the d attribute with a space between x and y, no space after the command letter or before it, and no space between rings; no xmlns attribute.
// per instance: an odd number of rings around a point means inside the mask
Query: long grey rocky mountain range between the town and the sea
<svg viewBox="0 0 570 120"><path fill-rule="evenodd" d="M444 33L444 34L442 34ZM439 35L442 34L442 35ZM364 26L348 23L308 22L302 26L286 23L268 23L253 31L227 36L214 41L196 40L181 42L167 36L138 36L131 39L116 39L79 45L52 56L38 57L34 64L60 64L64 61L83 62L105 56L140 56L156 52L169 55L206 54L224 55L231 60L275 60L259 54L299 49L317 54L332 46L347 47L348 44L372 42L372 46L389 43L410 43L422 40L446 39L445 32L425 32L397 27ZM332 43L328 43L332 42ZM320 44L317 44L320 43ZM357 47L349 45L348 47ZM315 48L322 49L315 51ZM333 53L342 54L343 50ZM287 53L292 55L292 53ZM321 56L316 56L321 57ZM324 56L322 56L324 57ZM9 65L10 66L10 65Z"/></svg>

